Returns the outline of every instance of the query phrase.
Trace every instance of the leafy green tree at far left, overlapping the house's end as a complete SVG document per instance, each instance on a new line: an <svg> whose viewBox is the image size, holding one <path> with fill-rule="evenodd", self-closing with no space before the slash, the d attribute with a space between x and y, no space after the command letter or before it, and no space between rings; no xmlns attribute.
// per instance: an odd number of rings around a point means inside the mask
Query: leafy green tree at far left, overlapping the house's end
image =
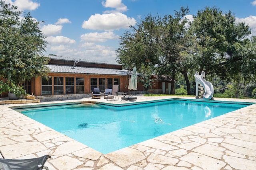
<svg viewBox="0 0 256 170"><path fill-rule="evenodd" d="M0 1L0 75L2 78L22 86L25 80L47 76L49 59L42 52L46 37L30 13Z"/></svg>

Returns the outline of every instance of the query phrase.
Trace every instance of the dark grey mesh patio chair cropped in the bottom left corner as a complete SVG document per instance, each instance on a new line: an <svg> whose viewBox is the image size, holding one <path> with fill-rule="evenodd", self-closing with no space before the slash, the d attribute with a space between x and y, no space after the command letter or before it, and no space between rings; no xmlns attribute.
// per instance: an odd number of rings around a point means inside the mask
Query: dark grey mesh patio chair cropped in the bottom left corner
<svg viewBox="0 0 256 170"><path fill-rule="evenodd" d="M44 155L40 158L31 159L2 159L0 158L1 170L48 170L47 166L44 166L46 160L51 158L49 155Z"/></svg>

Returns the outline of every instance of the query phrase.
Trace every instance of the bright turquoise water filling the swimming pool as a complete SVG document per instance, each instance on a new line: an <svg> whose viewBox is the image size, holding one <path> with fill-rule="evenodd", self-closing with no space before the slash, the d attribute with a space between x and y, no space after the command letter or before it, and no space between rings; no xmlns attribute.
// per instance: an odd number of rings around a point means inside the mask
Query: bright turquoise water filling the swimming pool
<svg viewBox="0 0 256 170"><path fill-rule="evenodd" d="M18 111L106 154L246 106L170 100L121 107L75 104Z"/></svg>

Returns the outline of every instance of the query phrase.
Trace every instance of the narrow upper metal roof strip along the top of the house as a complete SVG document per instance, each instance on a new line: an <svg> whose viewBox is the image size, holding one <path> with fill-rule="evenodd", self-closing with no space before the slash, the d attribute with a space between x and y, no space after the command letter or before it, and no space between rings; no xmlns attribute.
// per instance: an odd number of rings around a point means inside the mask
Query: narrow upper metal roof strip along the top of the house
<svg viewBox="0 0 256 170"><path fill-rule="evenodd" d="M62 56L55 56L55 55L48 55L45 57L49 57L50 59L57 59L57 60L64 60L64 61L80 61L83 63L97 63L97 64L110 64L110 65L122 65L118 63L108 62L108 61L97 61L97 60L88 60L88 59L79 59L79 58L71 58L71 57L62 57Z"/></svg>

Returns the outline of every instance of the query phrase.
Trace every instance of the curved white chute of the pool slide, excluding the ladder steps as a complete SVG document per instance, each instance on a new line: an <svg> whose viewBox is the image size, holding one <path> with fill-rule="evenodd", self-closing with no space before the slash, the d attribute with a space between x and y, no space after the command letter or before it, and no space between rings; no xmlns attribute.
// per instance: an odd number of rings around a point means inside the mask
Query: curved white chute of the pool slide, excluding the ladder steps
<svg viewBox="0 0 256 170"><path fill-rule="evenodd" d="M213 93L214 93L214 89L213 89L212 83L204 80L202 74L199 75L198 72L196 72L196 74L194 76L196 78L196 83L200 84L204 88L203 99L205 99L205 100L212 99L213 98ZM196 96L198 97L198 87L196 89Z"/></svg>

